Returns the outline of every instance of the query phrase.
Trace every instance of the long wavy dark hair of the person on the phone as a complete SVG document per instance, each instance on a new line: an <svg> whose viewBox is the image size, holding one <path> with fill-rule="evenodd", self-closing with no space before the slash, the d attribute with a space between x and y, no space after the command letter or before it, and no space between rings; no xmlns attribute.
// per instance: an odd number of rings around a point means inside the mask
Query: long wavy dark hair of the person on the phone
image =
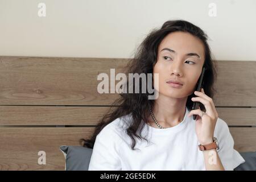
<svg viewBox="0 0 256 182"><path fill-rule="evenodd" d="M146 75L147 73L153 73L153 68L157 61L159 44L168 34L175 31L189 32L203 42L205 52L204 67L206 69L204 74L203 88L205 94L213 98L214 93L216 92L214 89L214 81L216 80L217 76L217 64L216 61L213 61L211 56L210 48L207 43L208 36L203 30L201 30L201 28L185 20L168 20L163 24L162 27L154 28L139 45L137 51L135 52L134 58L129 59L124 71L126 76L128 73L145 73ZM128 85L129 81L127 81L126 84ZM122 88L122 86L120 88ZM141 90L142 82L139 83L139 88ZM141 133L144 125L149 122L149 110L150 108L153 108L155 100L148 100L148 96L150 96L148 90L146 93L121 93L119 95L121 97L113 102L109 110L104 114L104 117L96 125L96 129L94 130L92 137L89 139L80 139L82 146L93 148L96 137L100 131L115 119L127 114L130 114L132 118L130 119L128 123L129 125L125 130L132 140L131 149L135 150L135 137L141 140L144 139L148 142L146 138L142 137ZM194 93L188 96L186 102L186 106L188 107L189 111L192 110L192 97L196 97ZM201 103L199 103L199 105L200 109L205 111L204 105Z"/></svg>

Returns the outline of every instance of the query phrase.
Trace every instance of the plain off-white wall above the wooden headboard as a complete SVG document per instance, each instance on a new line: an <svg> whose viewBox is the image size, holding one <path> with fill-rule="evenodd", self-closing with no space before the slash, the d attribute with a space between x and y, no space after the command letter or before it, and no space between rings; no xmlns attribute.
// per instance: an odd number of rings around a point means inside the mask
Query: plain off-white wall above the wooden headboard
<svg viewBox="0 0 256 182"><path fill-rule="evenodd" d="M217 60L256 61L255 17L254 0L0 0L0 55L129 58L152 28L178 18L207 32Z"/></svg>

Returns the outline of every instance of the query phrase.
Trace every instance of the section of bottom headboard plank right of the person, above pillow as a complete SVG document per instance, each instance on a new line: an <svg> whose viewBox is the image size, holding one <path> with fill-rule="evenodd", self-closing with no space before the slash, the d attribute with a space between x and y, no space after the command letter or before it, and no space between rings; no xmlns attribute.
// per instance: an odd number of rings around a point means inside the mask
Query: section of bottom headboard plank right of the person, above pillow
<svg viewBox="0 0 256 182"><path fill-rule="evenodd" d="M238 152L256 151L256 127L229 127Z"/></svg>

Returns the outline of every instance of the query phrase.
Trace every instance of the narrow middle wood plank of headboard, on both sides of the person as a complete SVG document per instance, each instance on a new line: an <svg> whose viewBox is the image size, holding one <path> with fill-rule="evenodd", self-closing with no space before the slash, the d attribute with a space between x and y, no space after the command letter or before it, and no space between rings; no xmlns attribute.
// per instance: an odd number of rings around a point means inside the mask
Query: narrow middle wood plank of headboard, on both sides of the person
<svg viewBox="0 0 256 182"><path fill-rule="evenodd" d="M108 106L0 106L0 125L96 125L109 109ZM216 109L230 126L256 126L256 108Z"/></svg>

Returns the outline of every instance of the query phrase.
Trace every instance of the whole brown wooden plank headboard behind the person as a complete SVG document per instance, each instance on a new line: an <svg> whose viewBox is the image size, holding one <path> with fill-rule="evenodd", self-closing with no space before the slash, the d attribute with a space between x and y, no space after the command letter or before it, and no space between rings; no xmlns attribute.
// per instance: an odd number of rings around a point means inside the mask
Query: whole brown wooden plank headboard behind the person
<svg viewBox="0 0 256 182"><path fill-rule="evenodd" d="M64 170L61 145L79 145L118 94L97 92L97 75L128 59L0 56L0 169ZM239 152L256 150L256 61L217 61L218 115ZM46 164L38 164L39 151Z"/></svg>

